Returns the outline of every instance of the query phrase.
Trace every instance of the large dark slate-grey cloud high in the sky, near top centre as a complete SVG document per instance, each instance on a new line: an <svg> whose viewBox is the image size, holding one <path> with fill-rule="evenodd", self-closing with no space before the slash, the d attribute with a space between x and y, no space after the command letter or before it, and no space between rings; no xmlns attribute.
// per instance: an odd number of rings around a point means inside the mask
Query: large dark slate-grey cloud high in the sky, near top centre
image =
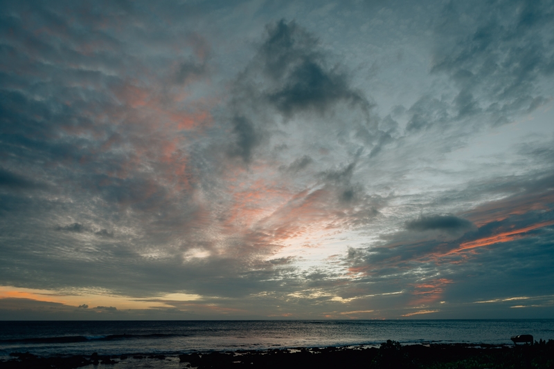
<svg viewBox="0 0 554 369"><path fill-rule="evenodd" d="M253 63L238 79L235 104L244 105L247 99L291 118L296 113L323 115L344 102L360 109L368 119L371 104L350 86L340 66L328 66L328 55L316 37L296 22L283 19L270 23L266 32ZM260 77L265 84L254 88L260 85Z"/></svg>

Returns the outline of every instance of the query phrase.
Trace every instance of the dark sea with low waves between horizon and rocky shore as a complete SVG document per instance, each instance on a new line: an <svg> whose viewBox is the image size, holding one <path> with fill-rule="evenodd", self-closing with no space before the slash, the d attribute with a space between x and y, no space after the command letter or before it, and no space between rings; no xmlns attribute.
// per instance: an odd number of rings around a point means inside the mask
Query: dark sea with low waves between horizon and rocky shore
<svg viewBox="0 0 554 369"><path fill-rule="evenodd" d="M511 343L554 339L554 320L420 321L0 321L0 358L10 352L166 354L193 351L378 345Z"/></svg>

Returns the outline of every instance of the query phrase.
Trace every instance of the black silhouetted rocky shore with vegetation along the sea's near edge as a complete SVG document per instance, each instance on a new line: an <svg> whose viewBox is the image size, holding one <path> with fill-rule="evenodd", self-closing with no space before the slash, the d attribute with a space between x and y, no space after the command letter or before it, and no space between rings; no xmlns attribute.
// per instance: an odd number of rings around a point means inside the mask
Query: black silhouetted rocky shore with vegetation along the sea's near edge
<svg viewBox="0 0 554 369"><path fill-rule="evenodd" d="M294 350L235 351L164 355L36 357L14 352L0 368L554 368L554 340L533 346L431 344L380 348L298 348ZM144 362L143 362L144 361ZM143 363L142 363L143 362ZM141 364L142 363L142 364Z"/></svg>

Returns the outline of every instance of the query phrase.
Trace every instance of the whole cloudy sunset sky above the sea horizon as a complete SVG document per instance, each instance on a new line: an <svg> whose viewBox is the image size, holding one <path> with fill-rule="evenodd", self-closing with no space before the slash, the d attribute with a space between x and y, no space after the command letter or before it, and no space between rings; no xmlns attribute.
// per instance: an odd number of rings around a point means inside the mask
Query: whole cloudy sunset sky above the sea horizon
<svg viewBox="0 0 554 369"><path fill-rule="evenodd" d="M0 7L0 319L554 318L553 1Z"/></svg>

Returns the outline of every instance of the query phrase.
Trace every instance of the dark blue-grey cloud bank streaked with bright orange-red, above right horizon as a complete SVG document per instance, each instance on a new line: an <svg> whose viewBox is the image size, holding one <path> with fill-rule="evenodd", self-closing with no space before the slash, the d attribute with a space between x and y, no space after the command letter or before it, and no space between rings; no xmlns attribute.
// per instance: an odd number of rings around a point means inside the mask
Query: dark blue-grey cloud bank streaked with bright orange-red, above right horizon
<svg viewBox="0 0 554 369"><path fill-rule="evenodd" d="M359 283L378 278L387 285L400 278L406 295L413 296L406 305L440 306L426 310L444 314L440 301L494 294L500 285L512 296L526 294L530 285L535 294L541 294L546 276L551 275L551 267L540 261L551 252L547 244L553 231L553 200L550 185L546 185L550 176L524 178L488 183L486 190L484 185L479 187L487 198L495 198L497 193L503 198L485 200L465 211L463 217L419 216L370 247L348 248L343 261L351 278ZM457 196L472 196L475 188L468 187ZM508 189L512 196L506 196ZM542 256L537 258L537 254ZM481 269L481 265L488 267ZM411 312L402 312L406 314Z"/></svg>

